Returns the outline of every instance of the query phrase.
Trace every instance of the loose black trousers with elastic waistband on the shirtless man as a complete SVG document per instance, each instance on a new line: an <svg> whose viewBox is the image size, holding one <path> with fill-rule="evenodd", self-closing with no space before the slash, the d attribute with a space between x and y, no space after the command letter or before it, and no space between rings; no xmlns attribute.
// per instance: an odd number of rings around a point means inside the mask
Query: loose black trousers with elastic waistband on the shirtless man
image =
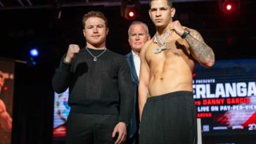
<svg viewBox="0 0 256 144"><path fill-rule="evenodd" d="M148 98L140 128L139 144L197 144L193 93L177 91Z"/></svg>

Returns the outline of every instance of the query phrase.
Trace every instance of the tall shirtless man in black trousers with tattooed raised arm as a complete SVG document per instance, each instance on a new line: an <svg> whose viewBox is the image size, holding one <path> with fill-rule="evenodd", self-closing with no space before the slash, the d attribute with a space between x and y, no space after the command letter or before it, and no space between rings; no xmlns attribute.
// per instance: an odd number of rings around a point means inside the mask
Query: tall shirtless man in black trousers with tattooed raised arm
<svg viewBox="0 0 256 144"><path fill-rule="evenodd" d="M140 144L197 143L192 72L196 61L212 67L215 54L196 30L172 21L174 14L171 0L151 0L157 32L141 50Z"/></svg>

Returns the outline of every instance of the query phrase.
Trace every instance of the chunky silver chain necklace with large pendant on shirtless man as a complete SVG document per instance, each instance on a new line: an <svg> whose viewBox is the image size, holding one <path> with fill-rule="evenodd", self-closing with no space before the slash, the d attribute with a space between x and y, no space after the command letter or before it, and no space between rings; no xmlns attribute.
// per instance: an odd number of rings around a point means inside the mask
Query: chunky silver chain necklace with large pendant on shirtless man
<svg viewBox="0 0 256 144"><path fill-rule="evenodd" d="M158 54L161 53L164 50L170 49L171 46L167 45L167 38L170 34L172 34L173 30L168 30L163 34L162 37L158 36L158 34L155 34L153 43L158 44L158 47L154 49L154 53Z"/></svg>

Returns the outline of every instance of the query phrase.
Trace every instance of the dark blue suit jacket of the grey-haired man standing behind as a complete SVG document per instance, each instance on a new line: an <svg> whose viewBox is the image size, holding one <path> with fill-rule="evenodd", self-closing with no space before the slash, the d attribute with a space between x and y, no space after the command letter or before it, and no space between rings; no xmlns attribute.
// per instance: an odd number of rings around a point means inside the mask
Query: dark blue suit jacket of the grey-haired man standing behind
<svg viewBox="0 0 256 144"><path fill-rule="evenodd" d="M132 77L132 86L134 90L134 107L132 111L132 119L130 120L130 124L128 127L127 138L132 138L136 132L139 131L139 105L138 105L138 86L139 86L139 78L136 74L136 69L134 65L134 58L132 55L132 51L125 55L130 67L131 77Z"/></svg>

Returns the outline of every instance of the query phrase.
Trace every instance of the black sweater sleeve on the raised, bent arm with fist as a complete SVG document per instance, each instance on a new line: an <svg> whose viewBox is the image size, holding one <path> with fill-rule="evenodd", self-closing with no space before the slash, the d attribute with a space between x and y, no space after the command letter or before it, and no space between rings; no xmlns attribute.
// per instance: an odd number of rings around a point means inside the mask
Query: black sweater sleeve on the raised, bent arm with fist
<svg viewBox="0 0 256 144"><path fill-rule="evenodd" d="M68 86L70 84L72 74L70 72L71 65L64 63L64 58L65 56L61 58L60 67L58 70L56 70L52 79L53 90L56 91L56 93L63 93L65 90L68 89Z"/></svg>

